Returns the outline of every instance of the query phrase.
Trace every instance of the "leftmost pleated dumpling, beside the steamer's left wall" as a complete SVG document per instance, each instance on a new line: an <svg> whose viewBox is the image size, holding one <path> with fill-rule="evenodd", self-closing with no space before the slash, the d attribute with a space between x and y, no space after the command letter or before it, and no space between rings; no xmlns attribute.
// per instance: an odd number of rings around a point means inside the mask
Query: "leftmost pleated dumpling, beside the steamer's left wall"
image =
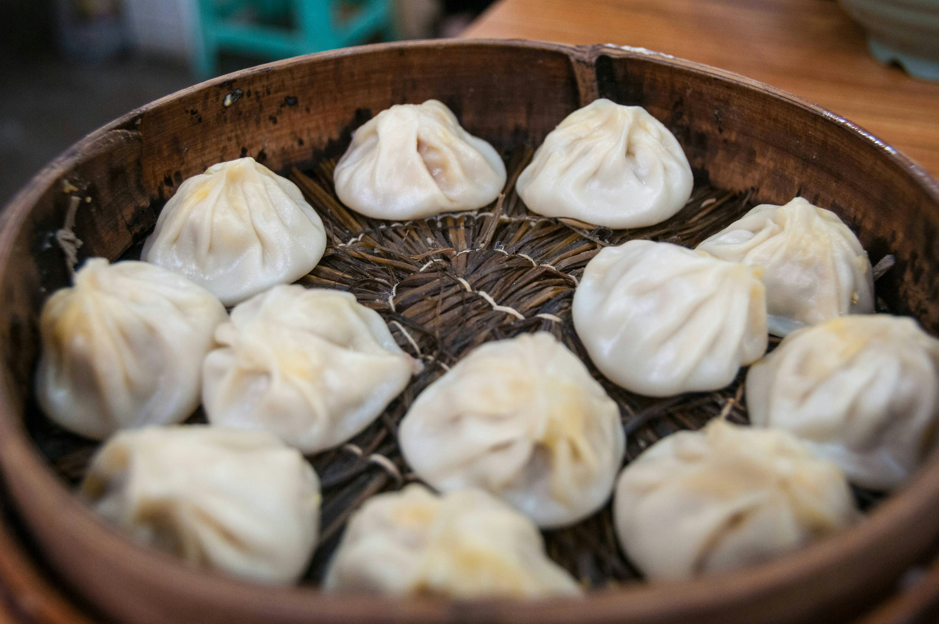
<svg viewBox="0 0 939 624"><path fill-rule="evenodd" d="M225 308L208 290L146 262L92 257L39 318L39 406L55 423L101 440L167 425L199 405L202 361Z"/></svg>

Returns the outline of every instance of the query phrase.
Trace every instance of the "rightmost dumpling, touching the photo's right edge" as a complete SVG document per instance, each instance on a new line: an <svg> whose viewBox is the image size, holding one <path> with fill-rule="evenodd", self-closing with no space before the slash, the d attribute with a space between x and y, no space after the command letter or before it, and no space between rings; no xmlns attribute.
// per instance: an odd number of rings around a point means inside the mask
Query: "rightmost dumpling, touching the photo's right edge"
<svg viewBox="0 0 939 624"><path fill-rule="evenodd" d="M754 425L802 438L854 483L896 488L936 445L939 340L886 314L798 330L750 367L747 408Z"/></svg>

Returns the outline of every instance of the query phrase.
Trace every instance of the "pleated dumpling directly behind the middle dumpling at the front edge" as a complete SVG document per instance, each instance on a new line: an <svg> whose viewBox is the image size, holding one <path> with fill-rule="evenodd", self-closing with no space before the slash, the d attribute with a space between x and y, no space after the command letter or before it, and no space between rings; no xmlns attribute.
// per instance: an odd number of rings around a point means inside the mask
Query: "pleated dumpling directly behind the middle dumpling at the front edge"
<svg viewBox="0 0 939 624"><path fill-rule="evenodd" d="M491 491L545 527L602 507L625 449L616 403L545 332L471 351L418 396L398 439L431 486Z"/></svg>

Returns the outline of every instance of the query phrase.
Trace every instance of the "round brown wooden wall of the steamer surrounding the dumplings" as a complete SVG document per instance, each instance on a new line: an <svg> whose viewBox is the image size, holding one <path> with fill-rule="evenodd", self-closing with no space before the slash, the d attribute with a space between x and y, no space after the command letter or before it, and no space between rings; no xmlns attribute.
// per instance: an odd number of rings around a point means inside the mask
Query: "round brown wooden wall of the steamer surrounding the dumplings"
<svg viewBox="0 0 939 624"><path fill-rule="evenodd" d="M50 233L63 224L76 180L90 198L74 228L82 257L113 260L146 236L183 179L210 164L251 155L275 171L309 167L369 115L430 98L497 148L520 133L540 142L598 97L662 120L699 179L777 204L802 195L838 212L871 258L896 256L884 277L892 309L939 332L939 183L851 122L773 87L642 49L503 40L379 44L244 70L90 134L0 216L0 470L25 534L68 591L129 624L827 622L848 621L883 597L939 537L935 461L865 522L762 566L579 601L454 602L322 596L188 568L101 523L31 439L38 310L68 283Z"/></svg>

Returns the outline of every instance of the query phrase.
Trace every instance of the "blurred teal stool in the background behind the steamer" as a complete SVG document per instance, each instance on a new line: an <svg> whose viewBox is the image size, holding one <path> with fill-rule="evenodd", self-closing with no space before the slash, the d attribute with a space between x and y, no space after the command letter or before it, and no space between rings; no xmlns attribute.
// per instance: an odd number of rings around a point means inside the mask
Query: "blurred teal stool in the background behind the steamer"
<svg viewBox="0 0 939 624"><path fill-rule="evenodd" d="M201 40L192 55L192 70L201 79L217 73L222 50L248 56L287 58L362 43L381 33L395 39L393 0L195 0ZM340 8L355 8L346 21ZM261 23L239 21L254 9ZM276 23L292 23L279 28Z"/></svg>

